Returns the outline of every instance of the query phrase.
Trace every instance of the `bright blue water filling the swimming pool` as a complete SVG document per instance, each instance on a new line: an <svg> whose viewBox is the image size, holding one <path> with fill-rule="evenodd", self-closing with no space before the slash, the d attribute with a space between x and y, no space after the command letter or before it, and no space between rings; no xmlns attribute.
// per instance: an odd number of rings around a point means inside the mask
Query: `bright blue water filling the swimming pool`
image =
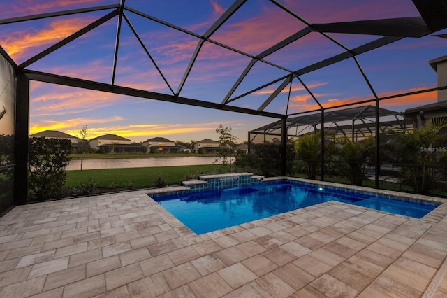
<svg viewBox="0 0 447 298"><path fill-rule="evenodd" d="M387 199L372 193L361 194L283 181L151 197L196 234L240 225L326 201L341 201L413 218L422 218L439 206L439 203L431 201Z"/></svg>

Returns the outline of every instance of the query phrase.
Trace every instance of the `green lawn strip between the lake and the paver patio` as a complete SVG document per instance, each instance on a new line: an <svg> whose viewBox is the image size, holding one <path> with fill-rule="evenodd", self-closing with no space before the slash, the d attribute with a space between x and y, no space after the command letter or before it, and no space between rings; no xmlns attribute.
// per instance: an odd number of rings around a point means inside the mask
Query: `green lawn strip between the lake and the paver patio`
<svg viewBox="0 0 447 298"><path fill-rule="evenodd" d="M152 182L156 176L166 178L168 185L179 185L185 180L187 175L198 171L202 173L225 173L229 167L219 164L205 164L198 166L159 166L149 168L129 168L129 169L94 169L83 171L67 171L65 188L78 187L80 183L88 180L96 183L96 187L108 187L115 183L117 187L122 187L127 183L133 183L135 188L152 187Z"/></svg>

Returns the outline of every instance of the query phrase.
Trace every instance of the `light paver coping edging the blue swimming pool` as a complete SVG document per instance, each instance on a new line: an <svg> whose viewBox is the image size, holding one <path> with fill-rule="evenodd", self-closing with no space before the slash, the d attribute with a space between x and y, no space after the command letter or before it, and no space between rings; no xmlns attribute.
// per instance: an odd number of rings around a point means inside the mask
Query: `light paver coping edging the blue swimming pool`
<svg viewBox="0 0 447 298"><path fill-rule="evenodd" d="M425 215L423 218L413 218L413 219L414 220L423 220L427 223L436 224L437 222L439 222L439 220L441 220L442 218L444 218L444 216L446 216L446 212L444 211L444 209L447 209L447 199L443 199L440 197L432 197L432 196L427 196L427 195L423 195L423 194L410 194L410 193L406 193L406 192L397 192L397 191L393 191L393 190L380 190L380 189L364 187L364 186L344 185L341 183L332 183L332 182L319 181L319 180L309 180L309 179L304 179L304 178L295 178L295 177L288 177L288 176L276 176L276 177L263 178L262 183L269 183L269 182L275 182L275 181L281 181L281 180L291 180L291 181L296 181L296 182L300 182L300 183L305 183L308 185L320 185L320 186L325 186L325 187L333 187L335 189L340 189L340 190L347 189L347 190L358 191L361 193L364 193L364 192L376 193L376 194L381 194L383 196L400 197L400 198L409 199L409 200L414 199L414 200L421 200L421 201L437 202L437 203L440 203L440 205L437 206L437 208L434 208L434 210L430 211L430 213L427 213L427 215ZM169 211L167 211L165 208L163 208L159 203L157 203L151 197L151 194L163 194L163 193L185 192L185 191L187 192L188 190L189 190L188 187L176 186L176 187L163 187L163 188L147 190L147 191L145 191L145 193L147 194L149 199L153 202L153 204L156 204L157 212L161 215L161 218L163 218L163 220L166 220L166 222L169 222L171 225L173 225L173 228L177 231L177 233L181 234L183 236L184 240L189 244L200 243L200 242L207 241L210 239L215 239L220 236L233 234L234 232L242 232L242 231L250 229L252 227L257 227L259 225L265 225L266 223L275 222L277 220L282 220L284 218L293 217L299 213L307 212L309 210L314 210L314 208L321 208L323 206L327 206L328 204L351 205L348 203L343 203L343 202L338 202L338 201L329 201L329 202L316 204L316 205L305 207L305 208L295 209L293 211L288 211L286 213L280 213L278 215L273 215L268 218L261 218L259 220L245 222L240 225L226 227L224 229L218 229L218 230L215 230L212 232L207 232L204 234L196 234L191 229L189 229L189 227L184 225L183 222L178 220L174 215L172 215ZM444 207L440 208L441 206L444 206ZM358 207L369 209L369 210L374 210L379 213L385 213L385 214L393 215L393 216L397 216L397 217L411 218L406 215L389 213L386 211L370 209L370 208L366 208L366 207L362 207L362 206L358 206Z"/></svg>

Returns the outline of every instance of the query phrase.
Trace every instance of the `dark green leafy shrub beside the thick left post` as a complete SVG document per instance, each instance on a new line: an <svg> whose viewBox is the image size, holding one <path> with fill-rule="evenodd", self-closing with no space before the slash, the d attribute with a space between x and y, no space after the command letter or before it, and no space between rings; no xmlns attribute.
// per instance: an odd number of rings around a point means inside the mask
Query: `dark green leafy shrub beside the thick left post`
<svg viewBox="0 0 447 298"><path fill-rule="evenodd" d="M61 192L70 153L67 139L29 139L29 190L39 201L53 199Z"/></svg>

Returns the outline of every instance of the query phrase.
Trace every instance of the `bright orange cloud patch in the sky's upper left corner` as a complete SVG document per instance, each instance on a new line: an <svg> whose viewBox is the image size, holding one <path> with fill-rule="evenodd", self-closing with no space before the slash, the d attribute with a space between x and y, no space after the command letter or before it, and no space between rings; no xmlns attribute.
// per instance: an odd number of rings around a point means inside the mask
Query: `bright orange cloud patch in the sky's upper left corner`
<svg viewBox="0 0 447 298"><path fill-rule="evenodd" d="M43 48L61 41L89 23L87 18L71 18L50 22L44 29L36 28L16 31L0 38L6 52L17 61L23 59L34 48Z"/></svg>

